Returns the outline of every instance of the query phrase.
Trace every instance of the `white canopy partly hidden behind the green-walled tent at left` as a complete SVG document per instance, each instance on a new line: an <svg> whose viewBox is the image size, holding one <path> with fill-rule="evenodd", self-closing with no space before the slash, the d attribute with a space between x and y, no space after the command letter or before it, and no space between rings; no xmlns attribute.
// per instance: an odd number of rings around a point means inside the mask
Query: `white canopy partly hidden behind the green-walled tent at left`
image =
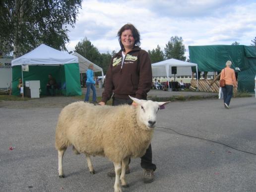
<svg viewBox="0 0 256 192"><path fill-rule="evenodd" d="M80 73L85 73L86 70L88 69L88 66L90 64L93 64L93 68L94 68L93 71L101 72L102 76L104 76L103 69L100 66L92 63L91 61L87 60L85 57L81 56L80 54L78 54L76 52L72 53L71 55L76 56L78 58ZM104 82L104 78L102 79L102 81Z"/></svg>

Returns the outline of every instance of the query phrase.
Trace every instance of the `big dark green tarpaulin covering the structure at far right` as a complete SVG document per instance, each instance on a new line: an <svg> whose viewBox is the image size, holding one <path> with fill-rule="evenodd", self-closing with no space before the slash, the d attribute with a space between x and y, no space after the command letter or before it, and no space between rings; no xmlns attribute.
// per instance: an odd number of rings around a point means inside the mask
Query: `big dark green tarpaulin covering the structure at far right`
<svg viewBox="0 0 256 192"><path fill-rule="evenodd" d="M231 68L239 67L238 90L254 92L256 75L256 47L244 45L189 46L190 61L198 64L198 71L217 71L225 67L228 60Z"/></svg>

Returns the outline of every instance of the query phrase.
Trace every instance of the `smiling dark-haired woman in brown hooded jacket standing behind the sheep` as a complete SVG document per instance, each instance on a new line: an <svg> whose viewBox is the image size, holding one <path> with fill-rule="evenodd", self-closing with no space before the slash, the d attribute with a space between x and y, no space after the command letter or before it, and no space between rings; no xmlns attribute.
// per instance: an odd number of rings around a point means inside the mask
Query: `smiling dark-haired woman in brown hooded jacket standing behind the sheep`
<svg viewBox="0 0 256 192"><path fill-rule="evenodd" d="M121 50L113 56L109 65L105 89L102 93L100 105L105 105L112 97L113 106L128 104L136 107L128 95L138 98L147 99L147 92L151 89L152 69L149 55L146 51L141 50L139 31L132 25L124 25L118 32ZM146 154L141 157L141 167L144 171L144 183L151 183L154 179L156 165L152 163L152 150L149 145ZM127 168L129 173L129 168ZM112 170L108 176L115 177Z"/></svg>

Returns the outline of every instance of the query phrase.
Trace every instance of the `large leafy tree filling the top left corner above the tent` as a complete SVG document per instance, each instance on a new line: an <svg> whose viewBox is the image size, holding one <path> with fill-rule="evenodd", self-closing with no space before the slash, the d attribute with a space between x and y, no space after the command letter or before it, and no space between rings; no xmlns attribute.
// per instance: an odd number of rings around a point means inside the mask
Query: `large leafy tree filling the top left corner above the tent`
<svg viewBox="0 0 256 192"><path fill-rule="evenodd" d="M45 43L66 50L82 0L1 0L0 50L20 55Z"/></svg>

